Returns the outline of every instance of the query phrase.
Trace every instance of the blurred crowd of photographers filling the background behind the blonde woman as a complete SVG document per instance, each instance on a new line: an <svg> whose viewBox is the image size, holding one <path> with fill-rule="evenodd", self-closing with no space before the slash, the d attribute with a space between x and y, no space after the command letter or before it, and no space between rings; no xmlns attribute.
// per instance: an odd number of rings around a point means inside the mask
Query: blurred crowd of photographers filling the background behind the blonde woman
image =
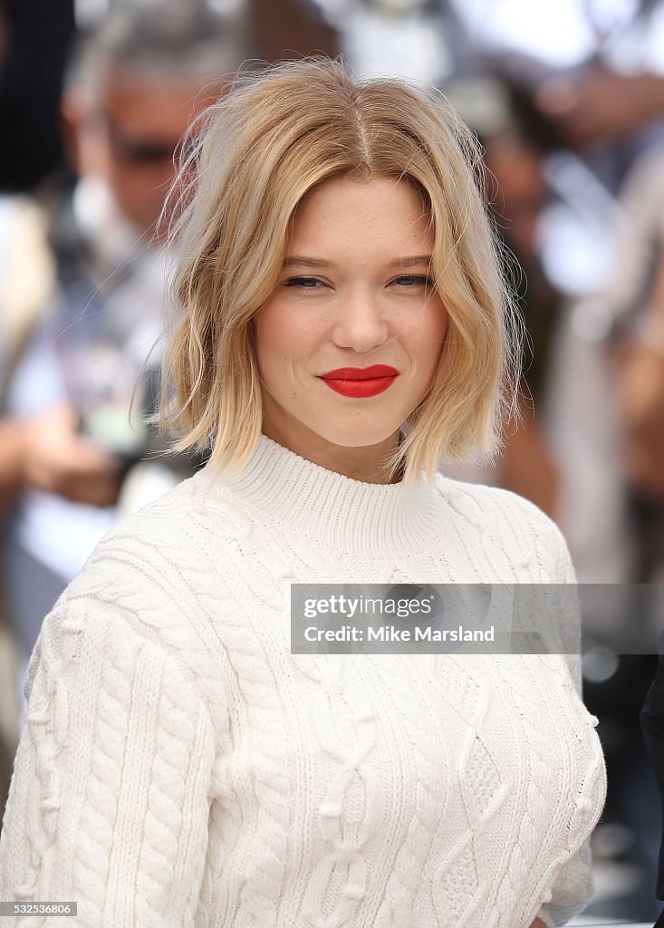
<svg viewBox="0 0 664 928"><path fill-rule="evenodd" d="M609 591L584 611L609 776L586 915L653 919L664 0L0 0L0 812L46 612L114 522L202 463L162 458L147 424L182 136L238 68L313 51L436 85L484 148L529 333L521 419L493 466L443 470L530 498ZM610 646L621 625L643 656Z"/></svg>

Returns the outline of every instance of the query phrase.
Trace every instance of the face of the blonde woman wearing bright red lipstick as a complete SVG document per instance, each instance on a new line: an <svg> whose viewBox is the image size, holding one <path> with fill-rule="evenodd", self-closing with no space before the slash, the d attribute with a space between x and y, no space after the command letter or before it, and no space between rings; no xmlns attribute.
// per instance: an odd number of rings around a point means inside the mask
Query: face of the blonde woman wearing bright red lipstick
<svg viewBox="0 0 664 928"><path fill-rule="evenodd" d="M334 177L307 194L254 320L266 435L332 470L339 452L359 461L396 446L447 328L432 247L408 181Z"/></svg>

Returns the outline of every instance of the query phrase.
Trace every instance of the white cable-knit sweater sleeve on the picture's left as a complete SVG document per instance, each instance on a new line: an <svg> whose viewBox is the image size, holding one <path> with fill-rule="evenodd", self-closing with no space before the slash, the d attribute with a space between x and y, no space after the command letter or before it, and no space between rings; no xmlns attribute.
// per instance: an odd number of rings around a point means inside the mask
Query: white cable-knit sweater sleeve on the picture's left
<svg viewBox="0 0 664 928"><path fill-rule="evenodd" d="M72 923L86 928L192 925L214 747L185 669L120 608L65 599L45 620L26 693L0 898L75 901Z"/></svg>

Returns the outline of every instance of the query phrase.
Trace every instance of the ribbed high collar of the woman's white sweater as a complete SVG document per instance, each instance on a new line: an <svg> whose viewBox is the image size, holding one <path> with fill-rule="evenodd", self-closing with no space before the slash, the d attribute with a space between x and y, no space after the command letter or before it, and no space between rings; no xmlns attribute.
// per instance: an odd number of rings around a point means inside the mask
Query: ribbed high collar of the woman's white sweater
<svg viewBox="0 0 664 928"><path fill-rule="evenodd" d="M252 522L276 522L336 551L394 557L440 544L443 504L426 484L351 480L265 435L239 474L224 477L209 465L198 478L208 500L235 502Z"/></svg>

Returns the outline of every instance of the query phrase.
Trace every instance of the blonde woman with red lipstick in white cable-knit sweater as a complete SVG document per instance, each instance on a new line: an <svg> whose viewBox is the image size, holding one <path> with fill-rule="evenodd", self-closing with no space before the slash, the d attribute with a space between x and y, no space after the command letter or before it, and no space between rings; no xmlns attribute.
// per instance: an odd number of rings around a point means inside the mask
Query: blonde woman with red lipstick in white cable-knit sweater
<svg viewBox="0 0 664 928"><path fill-rule="evenodd" d="M45 620L3 898L260 928L528 928L586 901L605 780L574 657L289 647L291 583L573 581L539 510L435 475L492 452L514 367L473 158L439 99L333 61L211 110L166 362L211 463Z"/></svg>

